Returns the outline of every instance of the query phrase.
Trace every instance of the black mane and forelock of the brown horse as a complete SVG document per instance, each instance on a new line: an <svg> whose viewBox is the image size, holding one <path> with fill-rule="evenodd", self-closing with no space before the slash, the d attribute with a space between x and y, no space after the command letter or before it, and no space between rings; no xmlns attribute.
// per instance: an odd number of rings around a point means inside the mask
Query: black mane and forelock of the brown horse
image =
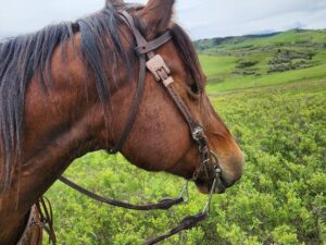
<svg viewBox="0 0 326 245"><path fill-rule="evenodd" d="M110 62L112 71L115 71L112 74L115 74L117 59L122 59L130 68L133 57L136 58L134 49L125 50L120 38L123 20L117 10L122 8L130 9L134 5L108 2L100 12L75 23L50 25L37 33L0 42L0 151L4 157L4 164L0 169L0 191L10 187L15 162L20 167L26 89L37 75L45 93L48 91L53 52L61 45L64 62L67 42L75 44L74 34L80 33L82 54L88 71L95 77L99 99L102 103L110 101L104 63ZM202 81L190 38L176 24L171 32L181 58L189 64L189 72L197 82ZM113 76L112 79L117 82L117 77Z"/></svg>

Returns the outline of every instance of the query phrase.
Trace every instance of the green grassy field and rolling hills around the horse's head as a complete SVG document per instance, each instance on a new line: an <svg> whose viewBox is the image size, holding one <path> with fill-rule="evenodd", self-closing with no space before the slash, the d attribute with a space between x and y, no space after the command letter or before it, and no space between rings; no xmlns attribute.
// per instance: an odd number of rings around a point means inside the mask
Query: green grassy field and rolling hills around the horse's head
<svg viewBox="0 0 326 245"><path fill-rule="evenodd" d="M315 54L301 63L310 68L268 73L275 52L251 54L248 50L284 44L299 52L297 45L311 36L318 42ZM220 47L212 47L212 40L202 42L208 46L199 50L205 53L201 62L211 101L243 149L247 164L238 184L214 196L208 222L163 244L326 244L326 59L318 48L325 36L293 30L227 40ZM225 56L224 50L246 52L241 59L256 60L250 68L237 69L242 61L236 53ZM255 74L243 74L248 69ZM138 170L121 156L104 152L76 160L66 175L98 193L134 203L177 196L184 184L178 177ZM68 245L141 244L197 213L206 200L193 184L189 204L170 211L108 207L61 183L47 196L53 204L59 244Z"/></svg>

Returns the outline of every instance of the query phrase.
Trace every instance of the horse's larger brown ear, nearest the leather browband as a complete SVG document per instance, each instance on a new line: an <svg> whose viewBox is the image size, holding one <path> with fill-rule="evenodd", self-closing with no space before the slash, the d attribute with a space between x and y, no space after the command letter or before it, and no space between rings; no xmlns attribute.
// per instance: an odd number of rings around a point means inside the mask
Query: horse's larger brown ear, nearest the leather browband
<svg viewBox="0 0 326 245"><path fill-rule="evenodd" d="M166 30L171 23L175 0L149 0L139 11L140 24L148 39Z"/></svg>

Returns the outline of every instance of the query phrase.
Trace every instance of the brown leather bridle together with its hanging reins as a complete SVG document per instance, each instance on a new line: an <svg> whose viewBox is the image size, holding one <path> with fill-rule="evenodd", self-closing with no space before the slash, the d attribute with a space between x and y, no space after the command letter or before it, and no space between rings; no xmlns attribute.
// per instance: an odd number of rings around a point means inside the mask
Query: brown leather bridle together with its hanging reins
<svg viewBox="0 0 326 245"><path fill-rule="evenodd" d="M168 42L172 39L172 35L170 30L167 30L162 36L160 36L159 38L152 41L147 41L146 38L139 32L139 29L136 27L134 17L126 11L122 11L120 14L136 39L136 44L137 44L136 52L139 58L139 77L138 77L138 85L134 98L134 103L130 108L130 113L127 119L127 123L115 147L112 150L110 150L110 154L117 154L118 151L121 151L128 138L128 135L135 123L137 113L139 111L139 105L143 95L146 71L149 70L154 76L154 78L158 82L160 82L165 88L166 93L168 94L168 96L177 107L178 111L185 119L189 127L191 138L198 145L200 162L193 172L191 181L197 181L199 176L205 176L206 180L213 180L209 200L204 209L198 215L186 217L184 220L181 220L178 226L172 229L166 234L145 243L146 245L150 245L163 241L174 234L177 234L183 230L189 230L195 225L197 225L200 221L203 221L204 219L208 218L212 195L217 185L217 182L221 182L222 180L221 169L218 166L217 158L213 152L210 151L209 143L204 134L203 126L200 123L198 123L198 121L192 117L188 107L185 105L183 99L179 97L178 93L175 90L173 86L174 78L172 76L171 70L164 62L163 58L160 54L154 53L155 49L164 46L166 42ZM72 188L78 191L84 195L89 196L90 198L93 198L101 203L105 203L109 205L123 207L127 209L136 209L136 210L170 209L175 205L186 203L188 200L188 181L178 198L167 198L160 201L159 204L139 206L139 205L131 205L131 204L114 200L111 198L102 197L98 194L85 189L84 187L73 183L72 181L63 176L60 176L59 179L64 184L71 186Z"/></svg>

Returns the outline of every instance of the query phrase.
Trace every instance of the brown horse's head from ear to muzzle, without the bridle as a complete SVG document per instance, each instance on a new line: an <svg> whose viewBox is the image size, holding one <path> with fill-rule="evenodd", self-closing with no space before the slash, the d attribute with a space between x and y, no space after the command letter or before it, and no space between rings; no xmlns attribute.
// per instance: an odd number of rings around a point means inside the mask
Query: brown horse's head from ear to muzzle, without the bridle
<svg viewBox="0 0 326 245"><path fill-rule="evenodd" d="M122 1L118 1L118 4L121 3ZM148 41L166 30L172 33L172 40L161 46L155 52L170 68L176 93L204 130L209 148L212 151L211 157L218 162L222 170L222 181L215 189L216 193L221 193L240 179L243 156L210 102L204 89L205 76L193 45L181 27L172 21L173 5L173 0L150 0L146 7L137 8L130 13ZM133 44L134 37L129 28L125 28L124 33L128 37L127 42ZM134 81L127 84L137 83L137 76L133 78ZM193 179L193 173L201 162L198 146L191 137L191 132L189 133L187 123L164 86L158 83L150 72L146 75L145 84L139 112L122 149L123 155L142 169L165 171L189 180ZM126 94L130 95L133 91L122 94L121 96L125 97ZM128 106L123 106L123 108L128 108ZM114 114L118 115L112 123L115 140L118 140L128 113L129 111L121 110L121 108L114 111ZM195 180L203 193L210 191L213 182L213 174L209 174L210 177L206 175L202 171Z"/></svg>

